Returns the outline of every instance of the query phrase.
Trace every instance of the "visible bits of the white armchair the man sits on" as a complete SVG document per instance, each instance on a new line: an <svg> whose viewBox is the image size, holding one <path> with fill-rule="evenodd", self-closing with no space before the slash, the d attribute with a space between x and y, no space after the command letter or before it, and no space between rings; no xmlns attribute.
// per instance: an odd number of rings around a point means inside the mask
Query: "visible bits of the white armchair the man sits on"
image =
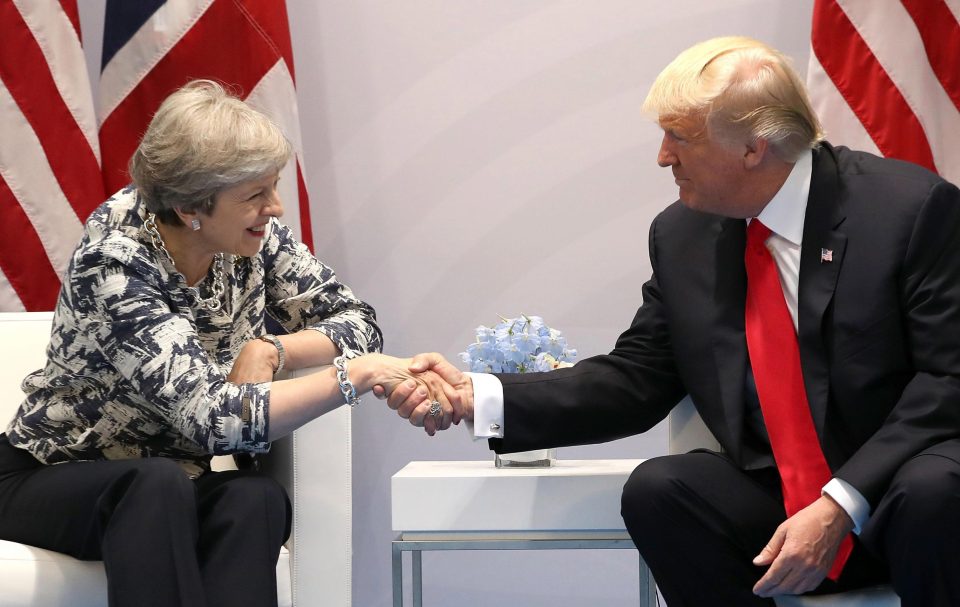
<svg viewBox="0 0 960 607"><path fill-rule="evenodd" d="M670 413L669 424L670 453L686 453L703 447L720 450L720 444L689 397ZM900 598L889 586L877 586L840 594L781 597L776 603L777 607L900 607Z"/></svg>

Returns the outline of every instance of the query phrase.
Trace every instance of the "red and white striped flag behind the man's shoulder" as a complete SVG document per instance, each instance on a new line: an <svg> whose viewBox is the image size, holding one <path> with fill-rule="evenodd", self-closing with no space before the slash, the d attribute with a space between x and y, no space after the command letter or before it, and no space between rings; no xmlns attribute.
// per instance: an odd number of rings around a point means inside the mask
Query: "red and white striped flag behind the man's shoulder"
<svg viewBox="0 0 960 607"><path fill-rule="evenodd" d="M960 183L960 0L816 0L811 42L831 143Z"/></svg>

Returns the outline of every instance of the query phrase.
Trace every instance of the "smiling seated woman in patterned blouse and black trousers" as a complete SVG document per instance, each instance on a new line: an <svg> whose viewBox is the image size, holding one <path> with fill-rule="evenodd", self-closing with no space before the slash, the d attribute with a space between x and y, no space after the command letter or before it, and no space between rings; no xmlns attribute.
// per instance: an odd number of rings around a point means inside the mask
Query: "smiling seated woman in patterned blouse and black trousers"
<svg viewBox="0 0 960 607"><path fill-rule="evenodd" d="M112 606L275 605L289 500L255 471L210 472L211 455L267 451L411 379L376 353L373 309L277 222L290 153L213 82L171 95L133 185L87 221L47 365L0 435L0 538L102 559ZM288 333L268 335L264 313ZM444 407L411 421L445 427Z"/></svg>

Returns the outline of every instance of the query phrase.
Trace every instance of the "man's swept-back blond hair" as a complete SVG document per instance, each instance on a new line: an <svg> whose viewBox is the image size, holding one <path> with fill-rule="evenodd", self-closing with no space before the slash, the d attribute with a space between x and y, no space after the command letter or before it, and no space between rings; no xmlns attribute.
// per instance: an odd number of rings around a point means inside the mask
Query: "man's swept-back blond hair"
<svg viewBox="0 0 960 607"><path fill-rule="evenodd" d="M713 38L680 53L657 76L643 111L664 128L694 119L721 141L765 139L787 162L824 137L790 60L743 36Z"/></svg>

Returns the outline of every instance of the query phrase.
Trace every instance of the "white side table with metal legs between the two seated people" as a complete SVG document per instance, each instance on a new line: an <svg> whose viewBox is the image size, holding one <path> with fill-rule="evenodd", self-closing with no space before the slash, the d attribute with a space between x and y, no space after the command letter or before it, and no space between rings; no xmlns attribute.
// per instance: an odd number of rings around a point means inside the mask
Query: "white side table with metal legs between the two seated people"
<svg viewBox="0 0 960 607"><path fill-rule="evenodd" d="M403 607L403 553L422 607L424 550L634 549L620 494L643 460L560 460L550 468L486 462L410 462L393 475L393 605ZM640 559L640 606L656 586Z"/></svg>

